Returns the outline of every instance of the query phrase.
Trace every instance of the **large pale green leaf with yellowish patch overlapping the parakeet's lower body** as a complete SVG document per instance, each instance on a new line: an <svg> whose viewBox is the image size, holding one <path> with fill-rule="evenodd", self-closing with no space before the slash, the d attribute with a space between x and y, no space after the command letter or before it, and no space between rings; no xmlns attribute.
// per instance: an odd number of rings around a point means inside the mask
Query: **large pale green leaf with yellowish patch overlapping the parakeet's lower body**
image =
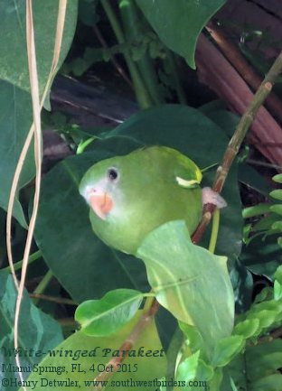
<svg viewBox="0 0 282 391"><path fill-rule="evenodd" d="M226 258L193 245L184 221L156 228L146 236L137 256L146 264L157 301L178 320L195 325L207 350L230 335L234 296Z"/></svg>

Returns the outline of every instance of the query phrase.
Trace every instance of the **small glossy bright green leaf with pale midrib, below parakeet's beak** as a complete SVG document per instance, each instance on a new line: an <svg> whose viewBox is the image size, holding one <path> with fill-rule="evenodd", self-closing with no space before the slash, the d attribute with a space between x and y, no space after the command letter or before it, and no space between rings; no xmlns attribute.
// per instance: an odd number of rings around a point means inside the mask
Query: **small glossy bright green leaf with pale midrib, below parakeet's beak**
<svg viewBox="0 0 282 391"><path fill-rule="evenodd" d="M92 337L117 332L136 314L143 294L133 289L117 289L100 300L81 303L75 312L75 320L82 331Z"/></svg>

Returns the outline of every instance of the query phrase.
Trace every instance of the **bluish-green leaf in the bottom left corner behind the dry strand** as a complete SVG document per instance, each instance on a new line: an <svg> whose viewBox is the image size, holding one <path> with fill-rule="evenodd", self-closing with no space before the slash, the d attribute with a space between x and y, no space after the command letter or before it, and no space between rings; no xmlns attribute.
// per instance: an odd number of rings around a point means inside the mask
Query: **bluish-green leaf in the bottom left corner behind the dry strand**
<svg viewBox="0 0 282 391"><path fill-rule="evenodd" d="M3 378L15 379L18 373L13 370L14 361L14 305L17 292L11 275L4 271L0 272L0 381ZM22 375L26 378L33 369L33 364L44 358L48 349L52 349L61 343L61 327L50 316L36 308L28 293L24 291L22 302L20 323L19 323L19 348L21 365L26 367ZM2 367L11 371L4 370ZM19 386L2 383L2 391L16 391Z"/></svg>

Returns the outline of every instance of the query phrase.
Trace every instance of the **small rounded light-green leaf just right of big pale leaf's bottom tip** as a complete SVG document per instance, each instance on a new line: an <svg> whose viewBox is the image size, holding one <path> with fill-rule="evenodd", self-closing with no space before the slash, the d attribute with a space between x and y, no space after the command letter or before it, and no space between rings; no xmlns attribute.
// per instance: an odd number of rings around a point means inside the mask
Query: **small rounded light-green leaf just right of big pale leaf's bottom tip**
<svg viewBox="0 0 282 391"><path fill-rule="evenodd" d="M231 335L219 340L216 344L211 363L213 367L225 367L245 345L245 338L241 335Z"/></svg>

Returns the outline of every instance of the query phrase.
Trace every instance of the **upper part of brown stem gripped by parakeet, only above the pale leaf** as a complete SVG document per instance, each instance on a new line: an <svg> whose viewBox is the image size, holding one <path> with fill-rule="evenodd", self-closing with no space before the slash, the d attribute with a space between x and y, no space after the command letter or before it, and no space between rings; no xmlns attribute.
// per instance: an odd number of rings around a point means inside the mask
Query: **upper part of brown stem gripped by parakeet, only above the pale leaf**
<svg viewBox="0 0 282 391"><path fill-rule="evenodd" d="M212 190L218 193L221 193L223 185L226 181L228 172L230 171L230 166L233 163L235 156L240 150L240 145L242 144L245 136L247 135L249 126L252 124L255 116L258 113L259 107L263 104L265 99L268 97L277 76L282 71L282 51L277 57L277 60L274 62L262 84L258 88L253 100L250 102L249 107L247 108L245 114L241 117L240 123L238 124L234 135L230 139L230 143L227 146L225 154L222 158L222 163L217 169L215 180L213 182ZM215 205L207 204L203 208L202 221L200 222L198 228L193 234L193 243L199 243L202 239L203 232L210 223L211 215L215 210Z"/></svg>

